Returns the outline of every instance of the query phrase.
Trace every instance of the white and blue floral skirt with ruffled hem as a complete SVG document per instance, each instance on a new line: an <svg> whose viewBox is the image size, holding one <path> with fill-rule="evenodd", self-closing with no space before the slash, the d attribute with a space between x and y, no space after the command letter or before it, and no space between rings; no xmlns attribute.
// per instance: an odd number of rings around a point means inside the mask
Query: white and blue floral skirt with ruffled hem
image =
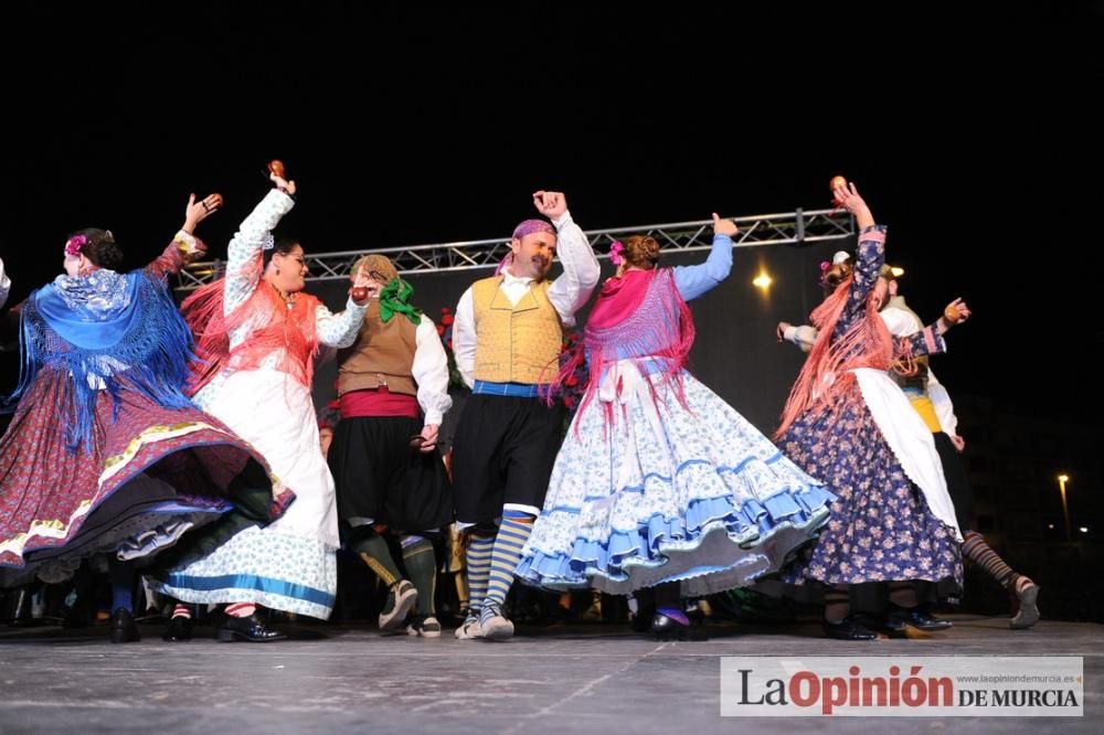
<svg viewBox="0 0 1104 735"><path fill-rule="evenodd" d="M686 405L631 362L611 373L564 439L523 582L708 595L777 571L827 521L832 496L689 373Z"/></svg>

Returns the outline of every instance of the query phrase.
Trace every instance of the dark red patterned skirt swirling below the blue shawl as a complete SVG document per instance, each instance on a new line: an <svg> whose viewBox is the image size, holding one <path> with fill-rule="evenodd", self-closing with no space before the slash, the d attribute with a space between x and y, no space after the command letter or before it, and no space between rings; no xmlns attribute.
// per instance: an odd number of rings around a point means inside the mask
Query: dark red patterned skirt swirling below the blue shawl
<svg viewBox="0 0 1104 735"><path fill-rule="evenodd" d="M274 489L261 455L217 419L132 391L117 415L102 394L91 445L70 451L57 413L70 380L40 372L0 439L0 584L61 580L97 553L151 557L229 514L243 478L265 486L265 520L294 497Z"/></svg>

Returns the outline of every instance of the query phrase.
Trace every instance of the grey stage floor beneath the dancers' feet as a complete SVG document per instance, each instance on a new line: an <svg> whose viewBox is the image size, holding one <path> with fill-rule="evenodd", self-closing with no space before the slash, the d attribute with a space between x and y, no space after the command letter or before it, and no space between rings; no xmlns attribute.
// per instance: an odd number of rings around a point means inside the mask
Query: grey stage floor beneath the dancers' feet
<svg viewBox="0 0 1104 735"><path fill-rule="evenodd" d="M220 643L211 628L164 643L144 626L113 646L103 627L0 628L0 733L736 733L1101 732L1104 626L951 616L954 629L843 643L813 624L711 627L661 643L620 626L521 628L506 642L301 626L291 641ZM323 638L325 636L325 638ZM722 656L1080 656L1081 718L720 716Z"/></svg>

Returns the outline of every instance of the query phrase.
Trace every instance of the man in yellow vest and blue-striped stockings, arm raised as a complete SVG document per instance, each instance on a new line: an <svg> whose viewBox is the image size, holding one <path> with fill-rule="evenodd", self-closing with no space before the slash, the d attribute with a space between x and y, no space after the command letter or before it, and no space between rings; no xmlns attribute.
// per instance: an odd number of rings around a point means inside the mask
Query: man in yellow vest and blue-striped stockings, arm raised
<svg viewBox="0 0 1104 735"><path fill-rule="evenodd" d="M461 640L513 635L502 605L563 430L563 405L549 405L544 395L563 328L598 283L598 262L566 198L538 191L533 204L553 224L519 224L509 262L464 292L453 324L456 365L473 386L453 447L456 520L469 536L471 611L456 630ZM563 276L553 283L546 276L556 253Z"/></svg>

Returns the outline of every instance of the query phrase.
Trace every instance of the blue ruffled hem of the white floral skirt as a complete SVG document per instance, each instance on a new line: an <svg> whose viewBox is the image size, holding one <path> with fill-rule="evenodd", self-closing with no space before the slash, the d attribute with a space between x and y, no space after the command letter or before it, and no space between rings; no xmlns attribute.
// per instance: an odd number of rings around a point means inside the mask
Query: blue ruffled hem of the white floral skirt
<svg viewBox="0 0 1104 735"><path fill-rule="evenodd" d="M778 571L815 537L835 500L814 484L739 508L731 496L698 499L675 519L655 514L630 531L611 529L602 540L576 536L570 552L531 547L516 573L527 584L550 589L629 594L682 582L683 595L708 595Z"/></svg>

